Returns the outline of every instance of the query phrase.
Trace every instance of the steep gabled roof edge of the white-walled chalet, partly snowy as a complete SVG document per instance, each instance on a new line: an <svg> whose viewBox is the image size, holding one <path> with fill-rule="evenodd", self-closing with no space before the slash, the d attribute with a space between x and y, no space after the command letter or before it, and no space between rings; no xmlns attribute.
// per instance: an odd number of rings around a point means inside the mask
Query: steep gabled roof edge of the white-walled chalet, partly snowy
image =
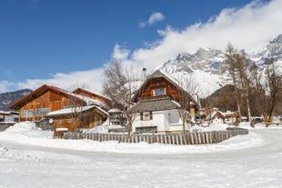
<svg viewBox="0 0 282 188"><path fill-rule="evenodd" d="M189 94L184 88L182 88L179 84L178 81L171 77L169 74L167 74L164 71L161 70L156 70L153 74L149 75L146 80L144 81L144 83L141 85L141 87L139 88L138 91L136 91L136 94L133 97L133 101L137 101L139 94L141 94L140 91L143 91L144 88L146 87L147 84L149 84L151 82L151 80L155 79L155 78L165 78L167 82L169 82L170 84L173 84L174 86L176 86L177 89L180 89L181 91L183 91L184 94L186 94L192 101L194 104L197 104L196 100L192 97L191 94Z"/></svg>

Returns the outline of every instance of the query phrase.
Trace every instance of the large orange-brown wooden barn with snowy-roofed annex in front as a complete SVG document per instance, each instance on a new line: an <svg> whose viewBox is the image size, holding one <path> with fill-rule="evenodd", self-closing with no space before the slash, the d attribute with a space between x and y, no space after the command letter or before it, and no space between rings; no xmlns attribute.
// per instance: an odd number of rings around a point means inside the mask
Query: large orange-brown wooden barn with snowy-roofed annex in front
<svg viewBox="0 0 282 188"><path fill-rule="evenodd" d="M86 108L85 106L93 107ZM107 114L100 106L106 107L107 104L85 95L70 93L53 85L44 84L12 104L10 108L19 111L21 122L41 121L48 118L54 129L58 126L65 127L69 131L78 131L80 128L92 128L105 119ZM64 114L60 110L67 113ZM70 110L71 113L69 113ZM78 117L85 118L83 124Z"/></svg>

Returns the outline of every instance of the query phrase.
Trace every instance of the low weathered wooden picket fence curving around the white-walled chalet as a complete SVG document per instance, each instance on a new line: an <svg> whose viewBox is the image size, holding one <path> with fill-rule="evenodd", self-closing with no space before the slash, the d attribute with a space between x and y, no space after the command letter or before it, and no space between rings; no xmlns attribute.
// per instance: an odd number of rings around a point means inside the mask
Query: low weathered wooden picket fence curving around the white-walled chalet
<svg viewBox="0 0 282 188"><path fill-rule="evenodd" d="M188 134L81 134L64 133L64 139L88 139L98 142L117 141L119 143L165 143L165 144L205 144L220 143L239 134L248 134L247 129L230 127L227 131L197 132Z"/></svg>

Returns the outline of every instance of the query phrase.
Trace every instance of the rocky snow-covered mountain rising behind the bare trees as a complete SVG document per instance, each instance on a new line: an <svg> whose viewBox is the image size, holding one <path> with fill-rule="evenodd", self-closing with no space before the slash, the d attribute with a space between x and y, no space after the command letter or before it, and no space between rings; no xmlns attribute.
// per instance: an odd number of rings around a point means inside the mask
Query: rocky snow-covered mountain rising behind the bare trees
<svg viewBox="0 0 282 188"><path fill-rule="evenodd" d="M249 63L257 64L261 71L270 58L277 59L282 65L282 35L278 35L262 50L246 55ZM223 85L230 84L227 71L222 69L224 60L225 52L200 48L195 54L178 54L176 59L167 61L160 69L176 78L190 76L199 86L200 97L206 97Z"/></svg>

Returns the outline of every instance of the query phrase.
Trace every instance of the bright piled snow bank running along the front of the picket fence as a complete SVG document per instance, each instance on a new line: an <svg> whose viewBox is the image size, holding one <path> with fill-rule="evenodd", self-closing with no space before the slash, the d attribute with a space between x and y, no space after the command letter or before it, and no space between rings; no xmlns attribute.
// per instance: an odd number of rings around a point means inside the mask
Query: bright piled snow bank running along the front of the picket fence
<svg viewBox="0 0 282 188"><path fill-rule="evenodd" d="M225 125L212 124L208 129L222 130ZM199 127L195 127L199 128ZM203 127L201 127L203 128ZM106 126L99 126L87 132L106 131ZM53 139L53 132L41 131L35 129L33 123L20 123L8 128L0 133L0 140L44 146L51 148L61 148L70 150L79 150L86 152L106 152L106 153L213 153L228 150L237 150L247 147L254 147L263 144L265 141L257 134L250 133L239 135L217 144L203 145L169 145L161 143L118 143L112 142L94 142L90 140L61 140ZM5 149L1 149L5 150Z"/></svg>

